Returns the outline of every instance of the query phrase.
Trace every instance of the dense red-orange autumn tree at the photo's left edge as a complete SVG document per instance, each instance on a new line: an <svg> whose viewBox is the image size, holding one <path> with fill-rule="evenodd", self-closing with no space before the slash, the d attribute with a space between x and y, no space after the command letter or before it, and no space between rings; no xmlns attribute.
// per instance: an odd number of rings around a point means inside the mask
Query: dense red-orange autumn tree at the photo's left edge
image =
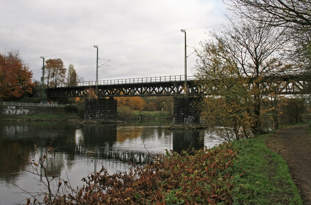
<svg viewBox="0 0 311 205"><path fill-rule="evenodd" d="M0 99L19 98L32 92L32 72L19 51L0 53Z"/></svg>

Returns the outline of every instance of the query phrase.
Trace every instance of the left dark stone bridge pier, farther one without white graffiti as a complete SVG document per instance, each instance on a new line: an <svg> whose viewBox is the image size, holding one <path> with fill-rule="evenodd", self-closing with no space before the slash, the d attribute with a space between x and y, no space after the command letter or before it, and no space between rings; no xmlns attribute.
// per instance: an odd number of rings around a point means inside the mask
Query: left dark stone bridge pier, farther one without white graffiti
<svg viewBox="0 0 311 205"><path fill-rule="evenodd" d="M114 98L86 99L85 101L85 120L116 120L117 119L117 100Z"/></svg>

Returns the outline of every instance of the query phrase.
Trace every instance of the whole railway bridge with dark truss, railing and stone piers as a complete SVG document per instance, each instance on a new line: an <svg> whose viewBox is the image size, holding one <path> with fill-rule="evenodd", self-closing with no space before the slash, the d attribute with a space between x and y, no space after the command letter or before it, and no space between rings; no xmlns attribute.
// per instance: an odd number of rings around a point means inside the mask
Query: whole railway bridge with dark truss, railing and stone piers
<svg viewBox="0 0 311 205"><path fill-rule="evenodd" d="M304 79L304 75L295 73L267 75L263 76L263 79L265 83L262 89L278 87L276 92L279 94L300 94L309 85L309 80ZM278 86L275 86L276 84ZM113 97L174 96L174 124L199 124L197 109L192 104L200 99L199 96L208 95L197 83L195 76L185 79L184 75L62 83L47 88L46 92L48 98L76 98L89 97L91 89L95 90L98 98L86 99L86 120L115 119L117 101Z"/></svg>

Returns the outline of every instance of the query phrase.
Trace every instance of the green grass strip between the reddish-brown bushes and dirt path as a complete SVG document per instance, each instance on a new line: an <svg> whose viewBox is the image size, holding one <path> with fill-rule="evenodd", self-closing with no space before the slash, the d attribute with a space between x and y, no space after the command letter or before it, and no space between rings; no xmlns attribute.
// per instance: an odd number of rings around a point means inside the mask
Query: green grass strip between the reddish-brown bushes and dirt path
<svg viewBox="0 0 311 205"><path fill-rule="evenodd" d="M239 148L233 169L236 200L248 204L303 204L284 159L269 150L264 142L269 135L233 142Z"/></svg>

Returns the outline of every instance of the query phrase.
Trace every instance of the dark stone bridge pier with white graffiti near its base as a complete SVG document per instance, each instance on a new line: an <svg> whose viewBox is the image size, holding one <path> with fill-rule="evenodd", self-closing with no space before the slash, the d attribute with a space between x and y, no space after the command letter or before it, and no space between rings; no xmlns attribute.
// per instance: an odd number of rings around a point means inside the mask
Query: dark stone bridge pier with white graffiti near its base
<svg viewBox="0 0 311 205"><path fill-rule="evenodd" d="M200 102L200 97L175 96L173 107L173 125L199 125L199 110L196 103Z"/></svg>

